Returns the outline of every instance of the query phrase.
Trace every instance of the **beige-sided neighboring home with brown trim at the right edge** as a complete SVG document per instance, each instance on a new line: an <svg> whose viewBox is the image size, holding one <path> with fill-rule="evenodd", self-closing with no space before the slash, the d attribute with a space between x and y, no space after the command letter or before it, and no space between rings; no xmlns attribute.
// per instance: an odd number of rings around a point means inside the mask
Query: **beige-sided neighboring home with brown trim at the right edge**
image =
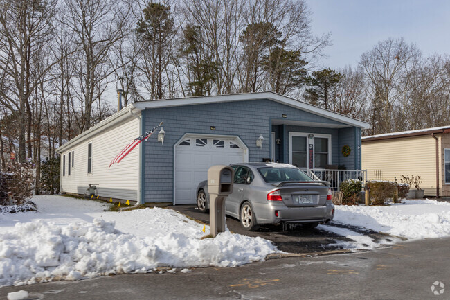
<svg viewBox="0 0 450 300"><path fill-rule="evenodd" d="M369 179L419 175L425 195L450 197L450 125L363 137L362 166Z"/></svg>

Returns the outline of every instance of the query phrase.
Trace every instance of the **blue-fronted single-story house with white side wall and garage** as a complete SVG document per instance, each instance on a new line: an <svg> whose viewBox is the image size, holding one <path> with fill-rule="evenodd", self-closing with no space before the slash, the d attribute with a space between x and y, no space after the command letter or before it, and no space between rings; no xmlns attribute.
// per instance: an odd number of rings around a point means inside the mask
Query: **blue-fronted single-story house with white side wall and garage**
<svg viewBox="0 0 450 300"><path fill-rule="evenodd" d="M127 143L160 121L163 143L155 132L108 168ZM264 160L310 172L338 165L361 170L361 130L368 127L272 92L131 103L58 148L61 191L83 194L96 184L100 197L188 204L215 164Z"/></svg>

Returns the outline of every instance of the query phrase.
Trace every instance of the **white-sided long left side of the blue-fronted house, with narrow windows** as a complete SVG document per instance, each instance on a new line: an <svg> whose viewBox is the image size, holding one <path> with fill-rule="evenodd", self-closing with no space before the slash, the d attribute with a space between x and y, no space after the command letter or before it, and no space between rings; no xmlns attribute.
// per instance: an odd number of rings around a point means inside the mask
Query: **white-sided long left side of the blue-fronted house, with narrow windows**
<svg viewBox="0 0 450 300"><path fill-rule="evenodd" d="M108 167L120 150L139 136L140 115L139 109L128 105L58 148L61 191L82 195L89 184L96 184L100 197L138 202L140 147L120 164Z"/></svg>

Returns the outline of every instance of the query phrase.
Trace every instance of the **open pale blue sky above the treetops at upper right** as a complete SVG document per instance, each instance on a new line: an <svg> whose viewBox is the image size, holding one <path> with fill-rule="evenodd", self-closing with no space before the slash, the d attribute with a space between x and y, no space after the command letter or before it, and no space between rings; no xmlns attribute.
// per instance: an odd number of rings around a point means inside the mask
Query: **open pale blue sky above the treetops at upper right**
<svg viewBox="0 0 450 300"><path fill-rule="evenodd" d="M404 37L424 55L450 53L449 0L307 0L312 30L332 33L320 67L356 67L361 54L388 37Z"/></svg>

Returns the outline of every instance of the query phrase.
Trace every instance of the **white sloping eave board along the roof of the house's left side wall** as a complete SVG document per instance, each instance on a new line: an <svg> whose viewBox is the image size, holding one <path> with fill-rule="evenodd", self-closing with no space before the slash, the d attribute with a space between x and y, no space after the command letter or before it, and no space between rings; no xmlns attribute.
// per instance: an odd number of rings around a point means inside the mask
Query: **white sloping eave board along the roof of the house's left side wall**
<svg viewBox="0 0 450 300"><path fill-rule="evenodd" d="M75 136L67 143L64 143L64 145L61 145L59 148L56 149L56 151L58 153L64 152L64 150L66 150L67 148L76 145L86 139L90 139L91 136L95 136L98 133L98 130L100 129L105 129L107 127L116 125L117 123L120 123L127 118L136 117L136 112L133 112L133 110L138 110L139 112L141 111L141 109L135 107L134 103L130 103L124 109L120 110L120 112L116 112L116 114L113 114L108 118L105 118L105 120L100 121L100 123L98 123L97 125L89 128L89 130L86 130L85 132L78 134L78 136Z"/></svg>

